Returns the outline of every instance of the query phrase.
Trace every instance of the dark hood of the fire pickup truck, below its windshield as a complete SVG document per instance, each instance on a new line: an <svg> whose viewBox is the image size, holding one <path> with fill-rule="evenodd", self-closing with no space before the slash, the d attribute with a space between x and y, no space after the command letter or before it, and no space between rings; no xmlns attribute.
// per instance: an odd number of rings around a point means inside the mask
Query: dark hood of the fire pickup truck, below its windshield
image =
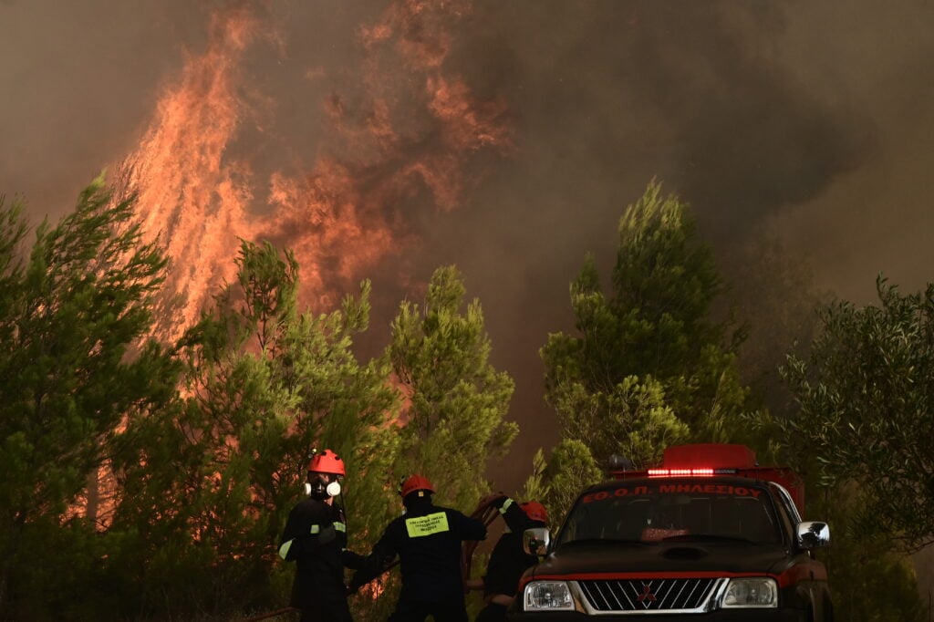
<svg viewBox="0 0 934 622"><path fill-rule="evenodd" d="M596 578L616 573L772 573L788 567L789 553L781 544L736 541L627 543L584 541L563 544L527 578Z"/></svg>

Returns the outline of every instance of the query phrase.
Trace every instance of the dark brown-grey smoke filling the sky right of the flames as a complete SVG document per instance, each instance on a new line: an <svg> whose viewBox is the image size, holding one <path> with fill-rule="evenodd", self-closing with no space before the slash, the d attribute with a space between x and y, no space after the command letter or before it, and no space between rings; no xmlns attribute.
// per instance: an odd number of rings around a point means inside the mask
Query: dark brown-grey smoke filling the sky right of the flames
<svg viewBox="0 0 934 622"><path fill-rule="evenodd" d="M439 224L426 263L458 262L485 303L526 451L553 438L536 350L571 329L570 279L587 250L608 273L652 177L693 205L727 276L768 233L815 287L861 302L879 271L931 280L929 3L484 7L458 58L507 93L519 155Z"/></svg>

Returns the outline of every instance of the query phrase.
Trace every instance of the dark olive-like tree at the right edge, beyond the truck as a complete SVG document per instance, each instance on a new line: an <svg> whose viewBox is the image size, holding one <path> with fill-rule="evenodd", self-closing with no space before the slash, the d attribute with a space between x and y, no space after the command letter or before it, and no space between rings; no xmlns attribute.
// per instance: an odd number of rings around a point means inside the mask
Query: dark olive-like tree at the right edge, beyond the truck
<svg viewBox="0 0 934 622"><path fill-rule="evenodd" d="M811 356L790 356L784 371L800 417L783 430L825 485L866 492L864 530L913 549L934 534L934 284L901 295L880 277L877 291L879 306L821 309Z"/></svg>

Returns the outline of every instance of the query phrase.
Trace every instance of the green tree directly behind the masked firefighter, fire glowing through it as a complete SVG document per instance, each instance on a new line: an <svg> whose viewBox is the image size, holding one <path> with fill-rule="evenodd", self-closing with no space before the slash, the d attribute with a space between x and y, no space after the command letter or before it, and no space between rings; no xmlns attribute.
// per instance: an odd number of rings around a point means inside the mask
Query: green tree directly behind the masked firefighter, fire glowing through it
<svg viewBox="0 0 934 622"><path fill-rule="evenodd" d="M369 284L340 311L313 316L298 311L289 251L244 242L237 268L236 283L183 338L185 403L134 422L135 453L121 462L115 525L140 533L144 611L281 606L287 594L270 578L281 564L276 545L313 448L345 459L352 542L385 521L388 502L377 500L387 497L398 398L387 362L361 364L352 352L367 326Z"/></svg>

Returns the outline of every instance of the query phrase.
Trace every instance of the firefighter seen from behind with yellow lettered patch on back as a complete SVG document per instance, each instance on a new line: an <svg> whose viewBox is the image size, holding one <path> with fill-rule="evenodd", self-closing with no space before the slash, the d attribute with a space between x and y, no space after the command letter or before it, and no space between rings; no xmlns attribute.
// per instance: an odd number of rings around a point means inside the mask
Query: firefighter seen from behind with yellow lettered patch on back
<svg viewBox="0 0 934 622"><path fill-rule="evenodd" d="M385 572L396 556L402 569L402 591L389 622L467 622L460 546L483 540L487 526L457 510L432 503L432 483L422 475L403 482L403 516L389 523L374 545L366 567L354 573L351 589Z"/></svg>

